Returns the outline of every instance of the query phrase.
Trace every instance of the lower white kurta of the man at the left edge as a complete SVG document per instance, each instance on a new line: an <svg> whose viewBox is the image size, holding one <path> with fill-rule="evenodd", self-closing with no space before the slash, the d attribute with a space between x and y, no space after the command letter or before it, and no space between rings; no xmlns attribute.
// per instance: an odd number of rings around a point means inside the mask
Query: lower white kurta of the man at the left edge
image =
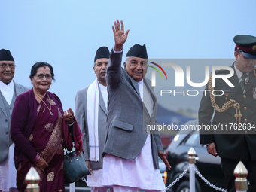
<svg viewBox="0 0 256 192"><path fill-rule="evenodd" d="M16 188L16 169L14 165L14 144L9 148L8 158L0 163L0 190L9 191Z"/></svg>

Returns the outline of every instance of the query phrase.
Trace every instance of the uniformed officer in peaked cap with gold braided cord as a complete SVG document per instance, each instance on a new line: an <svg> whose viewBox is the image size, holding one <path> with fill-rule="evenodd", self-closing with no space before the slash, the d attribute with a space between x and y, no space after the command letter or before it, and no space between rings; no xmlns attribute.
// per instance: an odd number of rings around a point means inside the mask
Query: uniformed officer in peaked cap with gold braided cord
<svg viewBox="0 0 256 192"><path fill-rule="evenodd" d="M235 192L233 171L241 160L248 169L248 191L256 191L256 37L237 35L235 58L231 68L234 70L228 80L234 85L229 87L222 79L217 79L214 89L221 91L213 96L206 91L200 103L199 123L213 125L220 130L201 130L200 142L207 145L207 151L221 157L222 169L227 180L227 192ZM230 71L221 70L218 75L227 75ZM206 86L211 90L211 85ZM211 90L212 92L212 90ZM216 93L217 94L217 93ZM229 104L230 105L227 105Z"/></svg>

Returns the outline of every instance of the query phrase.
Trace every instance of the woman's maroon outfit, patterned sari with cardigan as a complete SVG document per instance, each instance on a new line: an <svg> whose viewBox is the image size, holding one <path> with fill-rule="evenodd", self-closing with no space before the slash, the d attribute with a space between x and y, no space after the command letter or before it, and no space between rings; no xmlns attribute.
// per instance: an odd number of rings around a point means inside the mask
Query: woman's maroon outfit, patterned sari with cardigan
<svg viewBox="0 0 256 192"><path fill-rule="evenodd" d="M74 138L72 139L63 117L59 98L54 93L47 93L50 96L53 116L50 115L50 111L43 102L38 104L33 90L17 96L14 104L11 138L15 143L14 161L17 168L17 187L21 190L25 190L26 185L23 184L23 180L31 166L35 167L41 177L42 191L46 188L47 191L62 190L64 187L63 147L66 146L71 150L73 140L77 154L83 148L82 133L78 123L75 120L72 130ZM47 95L43 100L49 107ZM38 169L32 161L37 154L44 157L49 164L45 172ZM56 179L54 180L54 178Z"/></svg>

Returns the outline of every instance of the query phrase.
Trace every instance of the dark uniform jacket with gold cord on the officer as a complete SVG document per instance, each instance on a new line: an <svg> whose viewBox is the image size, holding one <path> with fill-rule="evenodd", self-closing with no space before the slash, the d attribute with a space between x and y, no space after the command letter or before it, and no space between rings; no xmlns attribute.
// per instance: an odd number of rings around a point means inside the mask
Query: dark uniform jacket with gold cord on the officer
<svg viewBox="0 0 256 192"><path fill-rule="evenodd" d="M234 69L234 64L231 67ZM222 70L218 73L227 74L229 72ZM254 72L249 74L249 81L246 85L245 93L242 93L236 71L228 79L235 87L229 87L222 79L216 79L215 90L223 90L224 95L215 96L215 101L221 107L230 99L236 100L240 105L242 113L242 126L234 130L233 125L236 123L236 118L234 117L234 114L236 114L235 108L231 107L221 113L215 111L212 124L218 126L219 130L209 130L207 132L209 135L202 134L203 131L200 131L200 142L201 144L215 142L220 157L233 160L248 160L251 156L252 160L256 160L256 99L253 98L253 87L256 87L256 77ZM208 90L208 85L206 86L206 90ZM203 95L200 103L199 123L209 125L213 112L214 108L212 108L209 92L207 92L206 96ZM237 123L239 123L239 118L237 119ZM221 125L223 126L223 130L221 130ZM230 129L232 132L230 132Z"/></svg>

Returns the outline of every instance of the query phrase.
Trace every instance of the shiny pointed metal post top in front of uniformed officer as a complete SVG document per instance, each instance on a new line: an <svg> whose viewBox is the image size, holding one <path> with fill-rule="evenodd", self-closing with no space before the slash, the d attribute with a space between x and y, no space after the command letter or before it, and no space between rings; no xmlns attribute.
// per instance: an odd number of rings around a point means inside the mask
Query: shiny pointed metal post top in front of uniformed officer
<svg viewBox="0 0 256 192"><path fill-rule="evenodd" d="M246 176L248 171L242 161L239 161L236 168L233 171L233 174L236 177L236 191L237 192L246 192L248 190L248 184Z"/></svg>

